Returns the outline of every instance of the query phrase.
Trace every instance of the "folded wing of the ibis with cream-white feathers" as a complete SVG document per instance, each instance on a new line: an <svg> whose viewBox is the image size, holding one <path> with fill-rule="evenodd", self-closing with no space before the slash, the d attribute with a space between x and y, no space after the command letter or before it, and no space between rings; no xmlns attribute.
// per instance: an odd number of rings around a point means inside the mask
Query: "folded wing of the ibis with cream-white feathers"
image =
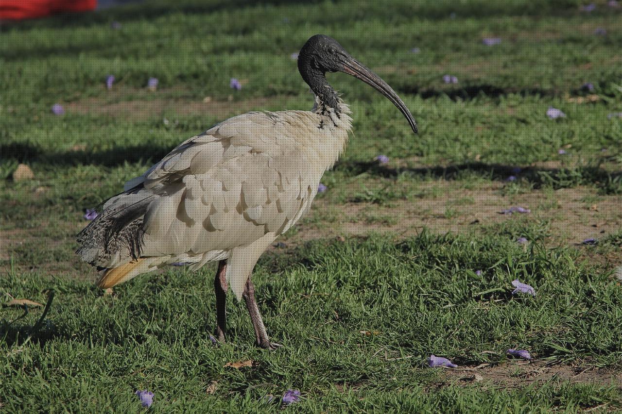
<svg viewBox="0 0 622 414"><path fill-rule="evenodd" d="M228 119L172 150L126 184L159 195L144 216L144 256L203 254L289 229L320 177L271 114Z"/></svg>

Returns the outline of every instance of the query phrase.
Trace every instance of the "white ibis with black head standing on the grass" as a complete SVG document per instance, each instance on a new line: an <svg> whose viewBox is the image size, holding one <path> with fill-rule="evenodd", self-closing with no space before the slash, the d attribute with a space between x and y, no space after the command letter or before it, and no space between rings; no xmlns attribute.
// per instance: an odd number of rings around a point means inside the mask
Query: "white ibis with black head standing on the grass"
<svg viewBox="0 0 622 414"><path fill-rule="evenodd" d="M228 288L244 298L257 344L274 349L255 299L251 272L266 248L309 211L323 173L348 141L350 109L328 85L344 72L384 94L417 125L402 99L336 40L311 37L298 70L315 94L311 111L249 112L182 142L80 234L77 253L101 270L109 288L175 262L195 270L218 260L216 335L225 341Z"/></svg>

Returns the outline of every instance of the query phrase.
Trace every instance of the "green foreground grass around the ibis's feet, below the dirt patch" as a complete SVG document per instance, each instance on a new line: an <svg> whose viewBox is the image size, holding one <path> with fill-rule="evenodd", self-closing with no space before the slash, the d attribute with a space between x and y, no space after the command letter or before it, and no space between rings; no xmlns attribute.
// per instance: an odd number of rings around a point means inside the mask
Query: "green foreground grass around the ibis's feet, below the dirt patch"
<svg viewBox="0 0 622 414"><path fill-rule="evenodd" d="M458 410L473 403L494 410L518 407L536 390L493 388L487 402L476 387L430 395L443 374L422 368L425 358L435 352L460 365L511 364L504 356L510 347L549 362L612 366L622 357L622 291L569 248L522 249L509 237L473 242L424 232L404 241L315 242L287 258L264 257L255 280L269 331L284 344L277 352L252 345L244 306L232 299L231 343L211 344L212 271L139 277L112 297L86 281L10 273L0 287L16 297L44 301L45 288L57 295L47 324L29 343L22 344L40 311L4 322L2 402L9 410L136 410L132 390L150 389L160 412L252 411L261 409L263 394L293 387L307 397L302 409L313 411ZM513 296L514 278L531 283L536 297ZM5 310L4 317L21 313ZM223 367L246 359L257 366ZM218 389L207 395L211 381ZM338 385L347 392L337 392ZM547 397L534 409L620 403L606 385L554 382L537 393Z"/></svg>

